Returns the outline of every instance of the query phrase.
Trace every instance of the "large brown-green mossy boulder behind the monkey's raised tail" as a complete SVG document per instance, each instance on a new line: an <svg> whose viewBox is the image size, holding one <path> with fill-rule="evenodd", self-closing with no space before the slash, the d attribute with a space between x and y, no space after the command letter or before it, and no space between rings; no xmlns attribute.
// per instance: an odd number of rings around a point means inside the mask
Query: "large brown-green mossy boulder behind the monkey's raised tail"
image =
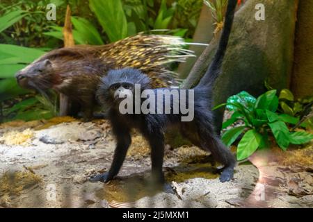
<svg viewBox="0 0 313 222"><path fill-rule="evenodd" d="M265 6L264 21L255 19L259 3ZM266 90L266 79L276 89L289 87L297 7L296 0L249 0L236 12L223 72L214 87L215 105L242 90L254 96L261 94ZM210 58L217 43L215 40L210 46ZM223 110L216 111L215 117L220 130Z"/></svg>

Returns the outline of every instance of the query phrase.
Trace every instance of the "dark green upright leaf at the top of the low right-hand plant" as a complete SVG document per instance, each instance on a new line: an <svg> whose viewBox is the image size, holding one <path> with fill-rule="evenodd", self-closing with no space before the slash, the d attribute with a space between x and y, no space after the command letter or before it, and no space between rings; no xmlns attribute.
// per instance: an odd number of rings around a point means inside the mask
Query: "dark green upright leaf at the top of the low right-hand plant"
<svg viewBox="0 0 313 222"><path fill-rule="evenodd" d="M257 98L255 109L271 110L275 112L278 108L278 97L276 90L268 91Z"/></svg>

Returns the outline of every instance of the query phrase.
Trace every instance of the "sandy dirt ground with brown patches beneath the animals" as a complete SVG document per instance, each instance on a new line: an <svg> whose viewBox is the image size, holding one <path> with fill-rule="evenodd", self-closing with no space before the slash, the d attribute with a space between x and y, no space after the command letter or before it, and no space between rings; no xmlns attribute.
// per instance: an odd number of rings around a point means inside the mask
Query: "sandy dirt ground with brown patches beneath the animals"
<svg viewBox="0 0 313 222"><path fill-rule="evenodd" d="M256 153L225 183L208 153L166 145L164 171L175 191L167 194L149 189L150 149L136 132L132 141L118 177L104 185L88 178L112 161L115 141L106 121L4 123L0 207L313 207L312 144Z"/></svg>

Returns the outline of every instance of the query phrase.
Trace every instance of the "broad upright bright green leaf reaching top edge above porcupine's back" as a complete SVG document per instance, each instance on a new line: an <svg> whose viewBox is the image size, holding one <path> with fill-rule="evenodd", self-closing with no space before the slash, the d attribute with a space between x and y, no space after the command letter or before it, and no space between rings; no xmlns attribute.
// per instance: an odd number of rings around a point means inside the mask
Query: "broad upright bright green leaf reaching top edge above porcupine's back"
<svg viewBox="0 0 313 222"><path fill-rule="evenodd" d="M111 42L127 37L127 20L120 0L90 0L89 7Z"/></svg>

